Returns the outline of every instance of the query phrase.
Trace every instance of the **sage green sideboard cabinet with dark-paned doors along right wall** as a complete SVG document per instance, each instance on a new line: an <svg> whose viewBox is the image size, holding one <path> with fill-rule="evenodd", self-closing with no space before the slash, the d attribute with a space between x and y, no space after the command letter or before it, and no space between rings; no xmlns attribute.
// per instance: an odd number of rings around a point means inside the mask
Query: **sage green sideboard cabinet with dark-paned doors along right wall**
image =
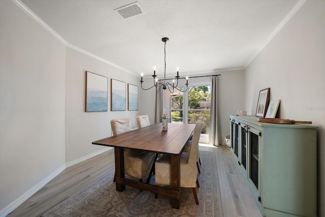
<svg viewBox="0 0 325 217"><path fill-rule="evenodd" d="M316 216L317 127L230 115L231 152L263 216Z"/></svg>

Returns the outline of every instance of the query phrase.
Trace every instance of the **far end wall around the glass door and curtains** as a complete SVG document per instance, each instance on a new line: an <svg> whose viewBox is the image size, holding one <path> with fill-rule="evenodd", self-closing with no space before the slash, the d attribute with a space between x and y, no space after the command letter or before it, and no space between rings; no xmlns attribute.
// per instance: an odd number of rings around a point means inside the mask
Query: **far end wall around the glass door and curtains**
<svg viewBox="0 0 325 217"><path fill-rule="evenodd" d="M220 144L222 144L223 138L230 134L229 114L236 114L237 110L244 110L244 71L215 71L204 75L216 74L220 74L218 77L218 92L221 128ZM186 76L186 74L182 76ZM148 88L150 87L150 84L152 84L152 78L144 79L144 81L144 88ZM211 82L211 77L189 79L189 83L200 82ZM140 95L141 112L143 114L148 114L150 123L154 123L155 89L141 90Z"/></svg>

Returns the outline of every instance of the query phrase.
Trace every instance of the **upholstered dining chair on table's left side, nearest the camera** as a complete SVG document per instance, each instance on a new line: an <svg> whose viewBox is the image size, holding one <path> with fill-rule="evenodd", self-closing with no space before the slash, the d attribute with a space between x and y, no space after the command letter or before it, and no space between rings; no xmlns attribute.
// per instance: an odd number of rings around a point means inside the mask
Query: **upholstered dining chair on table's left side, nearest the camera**
<svg viewBox="0 0 325 217"><path fill-rule="evenodd" d="M129 118L112 119L111 127L114 136L132 130L131 120ZM125 174L138 178L142 182L143 178L150 172L154 158L155 154L152 152L124 149Z"/></svg>

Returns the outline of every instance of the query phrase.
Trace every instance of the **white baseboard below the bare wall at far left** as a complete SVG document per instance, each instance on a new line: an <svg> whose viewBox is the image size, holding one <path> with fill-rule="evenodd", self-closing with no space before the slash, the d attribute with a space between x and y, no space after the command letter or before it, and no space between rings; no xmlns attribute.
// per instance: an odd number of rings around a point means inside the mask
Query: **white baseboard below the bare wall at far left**
<svg viewBox="0 0 325 217"><path fill-rule="evenodd" d="M64 169L66 169L66 165L63 165L60 168L58 168L56 171L54 171L49 176L47 176L45 179L43 179L41 182L39 182L37 185L35 185L33 188L28 190L25 194L20 196L17 200L15 200L11 204L9 204L3 210L0 210L0 217L5 217L6 215L8 215L15 208L17 208L19 205L21 205L23 202L25 202L28 198L30 198L32 195L34 195L36 192L38 192L41 188L43 188L45 184L47 184L55 176L60 174L60 172L62 172Z"/></svg>

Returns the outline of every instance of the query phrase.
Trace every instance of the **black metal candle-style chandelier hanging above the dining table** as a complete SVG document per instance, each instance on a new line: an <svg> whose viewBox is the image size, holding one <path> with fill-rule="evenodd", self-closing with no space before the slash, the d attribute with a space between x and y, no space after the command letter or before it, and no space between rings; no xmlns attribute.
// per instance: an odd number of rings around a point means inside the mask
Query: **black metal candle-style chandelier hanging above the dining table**
<svg viewBox="0 0 325 217"><path fill-rule="evenodd" d="M143 73L141 73L141 88L143 90L148 90L148 89L151 89L152 87L156 87L156 92L159 92L159 90L161 88L163 88L164 90L165 89L169 89L169 91L171 92L171 94L174 93L174 89L177 89L178 91L181 91L181 92L186 92L187 90L187 86L188 86L188 77L186 76L186 78L184 78L186 80L186 89L185 90L182 90L180 88L177 87L178 85L178 79L180 78L180 76L178 76L178 68L177 68L177 76L175 76L175 78L177 79L177 83L175 85L175 79L173 79L173 84L169 83L169 82L166 82L166 42L169 40L169 38L162 38L161 41L163 41L165 43L165 74L164 74L164 79L162 80L158 80L156 77L156 68L153 67L153 86L145 89L142 87L142 83L144 82L143 81ZM171 80L171 79L167 79L167 80ZM159 81L159 82L158 82Z"/></svg>

